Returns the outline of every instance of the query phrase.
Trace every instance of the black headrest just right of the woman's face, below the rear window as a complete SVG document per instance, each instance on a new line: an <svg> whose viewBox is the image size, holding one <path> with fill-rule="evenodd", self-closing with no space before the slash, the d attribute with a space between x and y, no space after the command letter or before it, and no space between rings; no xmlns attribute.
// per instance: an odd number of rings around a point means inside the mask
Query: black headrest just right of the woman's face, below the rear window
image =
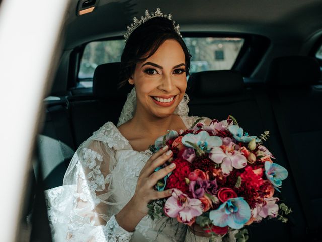
<svg viewBox="0 0 322 242"><path fill-rule="evenodd" d="M204 71L193 73L191 95L218 96L238 93L243 90L243 76L234 70Z"/></svg>

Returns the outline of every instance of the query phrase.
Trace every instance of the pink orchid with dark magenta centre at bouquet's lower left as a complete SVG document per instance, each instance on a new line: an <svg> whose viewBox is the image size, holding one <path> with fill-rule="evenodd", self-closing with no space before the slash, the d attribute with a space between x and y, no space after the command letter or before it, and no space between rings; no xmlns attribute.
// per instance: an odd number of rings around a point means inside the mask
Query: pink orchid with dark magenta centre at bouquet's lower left
<svg viewBox="0 0 322 242"><path fill-rule="evenodd" d="M171 197L165 203L164 211L168 217L176 218L179 216L179 220L188 224L194 217L200 216L204 208L199 199L189 198L188 195L174 188Z"/></svg>

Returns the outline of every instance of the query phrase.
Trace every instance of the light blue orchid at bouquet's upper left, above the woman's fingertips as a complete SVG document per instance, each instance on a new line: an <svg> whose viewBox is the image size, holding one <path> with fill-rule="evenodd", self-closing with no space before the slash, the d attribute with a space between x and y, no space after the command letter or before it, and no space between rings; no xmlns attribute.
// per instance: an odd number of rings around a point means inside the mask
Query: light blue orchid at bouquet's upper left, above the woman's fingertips
<svg viewBox="0 0 322 242"><path fill-rule="evenodd" d="M199 147L202 151L209 152L212 147L222 145L222 140L218 136L210 136L207 131L201 131L198 134L186 134L182 137L182 144L187 147Z"/></svg>

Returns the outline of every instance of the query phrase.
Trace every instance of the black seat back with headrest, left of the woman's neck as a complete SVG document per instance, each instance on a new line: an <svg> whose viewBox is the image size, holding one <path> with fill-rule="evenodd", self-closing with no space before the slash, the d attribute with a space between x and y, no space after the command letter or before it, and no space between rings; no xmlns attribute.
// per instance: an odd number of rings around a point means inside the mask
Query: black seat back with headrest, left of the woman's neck
<svg viewBox="0 0 322 242"><path fill-rule="evenodd" d="M120 63L99 65L93 77L93 96L69 97L72 133L76 146L89 138L108 121L115 125L127 94L133 88L127 84L118 88Z"/></svg>

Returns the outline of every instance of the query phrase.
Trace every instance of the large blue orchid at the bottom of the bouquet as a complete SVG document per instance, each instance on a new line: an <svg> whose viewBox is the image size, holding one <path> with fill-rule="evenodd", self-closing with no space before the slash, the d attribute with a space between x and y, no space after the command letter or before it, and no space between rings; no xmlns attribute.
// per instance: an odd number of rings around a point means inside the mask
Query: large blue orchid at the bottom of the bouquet
<svg viewBox="0 0 322 242"><path fill-rule="evenodd" d="M209 213L213 225L240 229L251 218L251 208L242 198L230 198Z"/></svg>

